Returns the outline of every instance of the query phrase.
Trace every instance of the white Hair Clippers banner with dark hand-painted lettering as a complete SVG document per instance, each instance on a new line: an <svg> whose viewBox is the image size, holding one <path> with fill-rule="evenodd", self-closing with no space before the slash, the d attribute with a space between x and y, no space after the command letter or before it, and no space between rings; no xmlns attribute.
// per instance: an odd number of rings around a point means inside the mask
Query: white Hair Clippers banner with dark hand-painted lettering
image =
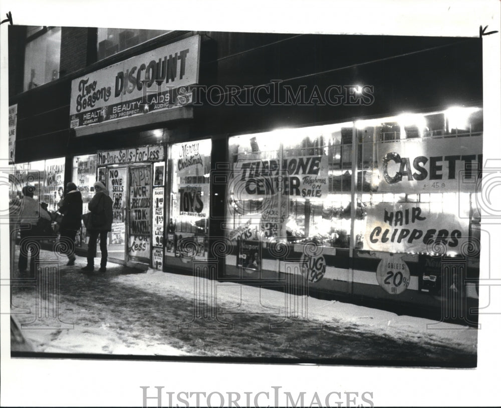
<svg viewBox="0 0 501 408"><path fill-rule="evenodd" d="M426 253L442 246L446 251L458 252L461 239L468 236L468 219L459 218L454 210L457 208L444 213L441 202L380 203L369 207L364 249Z"/></svg>

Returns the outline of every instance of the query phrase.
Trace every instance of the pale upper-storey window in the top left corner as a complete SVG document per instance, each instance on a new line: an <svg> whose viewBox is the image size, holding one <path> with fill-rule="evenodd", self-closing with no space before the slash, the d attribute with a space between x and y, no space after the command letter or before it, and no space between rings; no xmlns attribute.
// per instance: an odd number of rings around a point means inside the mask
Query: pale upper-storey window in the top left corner
<svg viewBox="0 0 501 408"><path fill-rule="evenodd" d="M29 27L25 51L24 91L59 78L61 27Z"/></svg>

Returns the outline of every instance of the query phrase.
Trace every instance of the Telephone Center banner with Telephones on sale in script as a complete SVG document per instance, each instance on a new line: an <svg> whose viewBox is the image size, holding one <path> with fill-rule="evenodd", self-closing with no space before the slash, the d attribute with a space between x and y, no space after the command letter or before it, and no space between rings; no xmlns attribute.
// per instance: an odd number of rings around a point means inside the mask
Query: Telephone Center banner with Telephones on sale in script
<svg viewBox="0 0 501 408"><path fill-rule="evenodd" d="M237 200L258 199L278 193L301 198L325 199L329 193L327 156L295 156L278 159L239 157L229 185Z"/></svg>

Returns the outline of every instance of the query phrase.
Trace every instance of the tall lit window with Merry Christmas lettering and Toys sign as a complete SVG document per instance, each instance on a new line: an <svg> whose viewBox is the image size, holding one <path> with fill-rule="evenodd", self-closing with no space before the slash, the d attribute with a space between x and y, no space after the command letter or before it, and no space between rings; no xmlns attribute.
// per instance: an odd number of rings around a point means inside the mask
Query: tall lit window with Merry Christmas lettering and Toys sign
<svg viewBox="0 0 501 408"><path fill-rule="evenodd" d="M165 254L182 263L207 259L211 146L211 140L205 139L170 148L170 217Z"/></svg>

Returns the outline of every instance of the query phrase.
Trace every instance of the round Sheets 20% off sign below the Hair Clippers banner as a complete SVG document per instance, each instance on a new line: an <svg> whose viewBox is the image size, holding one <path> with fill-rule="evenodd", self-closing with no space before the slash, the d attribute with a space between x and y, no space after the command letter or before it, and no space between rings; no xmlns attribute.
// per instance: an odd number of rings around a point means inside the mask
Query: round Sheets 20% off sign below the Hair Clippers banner
<svg viewBox="0 0 501 408"><path fill-rule="evenodd" d="M409 286L409 268L401 256L387 254L377 267L376 279L386 292L398 295Z"/></svg>

